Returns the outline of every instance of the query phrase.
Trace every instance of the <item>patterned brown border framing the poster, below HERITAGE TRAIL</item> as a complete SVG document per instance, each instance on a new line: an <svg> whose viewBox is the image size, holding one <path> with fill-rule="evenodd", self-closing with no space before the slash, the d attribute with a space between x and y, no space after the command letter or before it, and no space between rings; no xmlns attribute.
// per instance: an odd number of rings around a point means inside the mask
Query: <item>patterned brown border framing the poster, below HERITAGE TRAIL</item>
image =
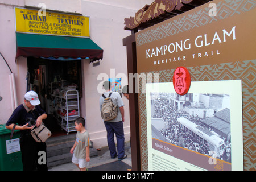
<svg viewBox="0 0 256 182"><path fill-rule="evenodd" d="M255 171L256 60L203 65L187 69L191 74L191 81L242 80L243 165L246 171ZM159 73L159 82L172 82L174 71L175 69L149 73ZM139 94L139 108L141 121L141 167L142 170L148 170L146 94Z"/></svg>

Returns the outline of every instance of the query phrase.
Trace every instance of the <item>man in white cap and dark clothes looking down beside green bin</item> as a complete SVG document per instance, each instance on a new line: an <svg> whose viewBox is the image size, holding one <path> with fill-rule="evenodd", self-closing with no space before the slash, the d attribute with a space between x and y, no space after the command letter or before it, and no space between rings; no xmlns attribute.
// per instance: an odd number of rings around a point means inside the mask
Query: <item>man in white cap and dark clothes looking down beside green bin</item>
<svg viewBox="0 0 256 182"><path fill-rule="evenodd" d="M24 96L23 104L20 104L11 114L6 123L7 129L20 130L20 151L22 152L22 163L24 171L47 170L46 164L39 164L39 151L46 152L46 143L36 142L30 134L33 125L39 126L47 118L45 111L39 106L38 94L29 91ZM32 125L32 126L31 126ZM45 153L46 154L46 153Z"/></svg>

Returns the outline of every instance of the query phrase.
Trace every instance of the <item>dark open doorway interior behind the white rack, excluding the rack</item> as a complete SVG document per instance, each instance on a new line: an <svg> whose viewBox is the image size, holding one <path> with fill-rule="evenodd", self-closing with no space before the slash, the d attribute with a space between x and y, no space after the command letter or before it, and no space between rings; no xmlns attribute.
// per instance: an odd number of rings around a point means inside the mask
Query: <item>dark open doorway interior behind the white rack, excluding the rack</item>
<svg viewBox="0 0 256 182"><path fill-rule="evenodd" d="M54 96L56 93L75 89L80 102L82 97L81 59L28 57L27 65L27 91L34 90L38 93L40 106L48 115L44 123L53 131L53 135L66 134L66 131L60 127L63 123L57 109L57 105L61 103L57 103Z"/></svg>

